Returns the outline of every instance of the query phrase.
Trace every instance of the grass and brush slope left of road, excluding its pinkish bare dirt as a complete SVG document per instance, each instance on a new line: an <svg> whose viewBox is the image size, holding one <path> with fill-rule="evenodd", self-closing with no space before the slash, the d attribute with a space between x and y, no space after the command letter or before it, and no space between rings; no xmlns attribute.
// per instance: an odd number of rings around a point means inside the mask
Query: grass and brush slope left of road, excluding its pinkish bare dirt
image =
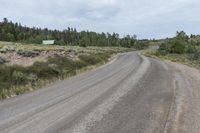
<svg viewBox="0 0 200 133"><path fill-rule="evenodd" d="M0 42L0 50L10 51L54 51L59 53L75 51L78 59L63 56L48 58L46 62L35 62L32 66L0 65L0 99L13 97L44 86L55 79L65 79L85 70L95 68L109 61L116 53L130 51L117 47L73 47L23 45L19 43Z"/></svg>

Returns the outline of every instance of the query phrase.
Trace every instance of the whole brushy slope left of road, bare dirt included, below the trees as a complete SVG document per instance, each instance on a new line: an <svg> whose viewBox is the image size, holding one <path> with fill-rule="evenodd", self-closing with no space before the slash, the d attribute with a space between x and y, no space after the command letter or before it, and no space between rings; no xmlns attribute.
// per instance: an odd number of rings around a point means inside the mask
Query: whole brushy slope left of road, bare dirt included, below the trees
<svg viewBox="0 0 200 133"><path fill-rule="evenodd" d="M0 42L0 99L74 76L108 62L116 53L131 50L133 49L120 47L43 46ZM34 60L38 58L40 60ZM32 64L25 65L30 60Z"/></svg>

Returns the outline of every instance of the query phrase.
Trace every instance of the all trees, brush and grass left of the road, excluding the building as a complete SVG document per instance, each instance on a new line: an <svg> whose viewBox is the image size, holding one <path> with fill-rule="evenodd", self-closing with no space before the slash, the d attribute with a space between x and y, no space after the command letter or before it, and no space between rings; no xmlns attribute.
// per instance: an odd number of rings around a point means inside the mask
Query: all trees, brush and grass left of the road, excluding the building
<svg viewBox="0 0 200 133"><path fill-rule="evenodd" d="M55 44L42 45L43 40L55 40ZM0 22L0 99L104 64L116 53L147 47L136 35L30 28L4 18Z"/></svg>

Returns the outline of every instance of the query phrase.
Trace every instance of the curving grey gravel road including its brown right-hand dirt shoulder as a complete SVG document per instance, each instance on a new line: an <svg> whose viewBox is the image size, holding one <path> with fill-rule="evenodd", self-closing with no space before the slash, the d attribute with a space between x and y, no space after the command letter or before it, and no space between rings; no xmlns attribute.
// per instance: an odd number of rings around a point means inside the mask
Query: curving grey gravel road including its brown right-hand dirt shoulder
<svg viewBox="0 0 200 133"><path fill-rule="evenodd" d="M0 102L0 133L199 133L200 73L138 53Z"/></svg>

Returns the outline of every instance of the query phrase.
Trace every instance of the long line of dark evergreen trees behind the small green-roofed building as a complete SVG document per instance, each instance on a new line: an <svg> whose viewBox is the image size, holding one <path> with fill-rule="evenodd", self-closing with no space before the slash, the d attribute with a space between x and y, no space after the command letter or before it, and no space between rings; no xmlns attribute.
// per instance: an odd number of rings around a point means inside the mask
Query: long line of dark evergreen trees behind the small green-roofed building
<svg viewBox="0 0 200 133"><path fill-rule="evenodd" d="M146 44L137 40L137 36L127 35L120 38L117 33L96 33L91 31L78 32L75 28L50 30L48 28L36 28L22 26L4 18L0 22L0 41L24 42L41 44L42 40L55 40L56 45L72 46L120 46L143 49Z"/></svg>

